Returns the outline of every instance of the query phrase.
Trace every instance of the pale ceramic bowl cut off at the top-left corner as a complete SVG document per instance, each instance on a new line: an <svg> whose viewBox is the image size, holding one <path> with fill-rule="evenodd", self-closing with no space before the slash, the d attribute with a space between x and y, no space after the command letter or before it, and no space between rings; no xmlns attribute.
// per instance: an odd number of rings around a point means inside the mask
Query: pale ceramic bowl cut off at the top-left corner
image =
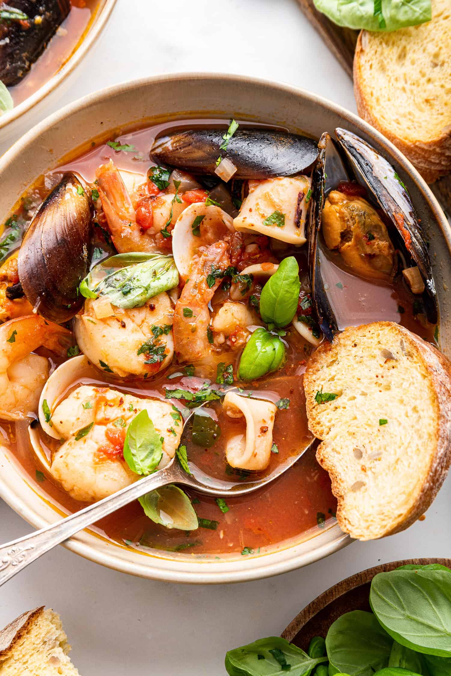
<svg viewBox="0 0 451 676"><path fill-rule="evenodd" d="M41 108L43 110L44 106L49 105L57 87L59 88L59 92L62 91L62 83L94 45L101 31L105 27L115 3L116 0L100 0L99 5L95 10L95 16L93 16L89 27L87 28L85 37L78 44L78 47L76 47L72 56L63 64L60 70L47 80L42 87L39 87L37 91L22 101L22 103L16 105L13 110L0 116L0 143L1 141L11 138L13 135L17 138L18 133L20 133L21 130L24 130L25 124L28 124L25 128L29 129L30 126L37 121L39 109ZM39 105L40 103L41 105ZM27 118L24 118L26 113L31 110L32 114L29 116L29 119L28 116Z"/></svg>

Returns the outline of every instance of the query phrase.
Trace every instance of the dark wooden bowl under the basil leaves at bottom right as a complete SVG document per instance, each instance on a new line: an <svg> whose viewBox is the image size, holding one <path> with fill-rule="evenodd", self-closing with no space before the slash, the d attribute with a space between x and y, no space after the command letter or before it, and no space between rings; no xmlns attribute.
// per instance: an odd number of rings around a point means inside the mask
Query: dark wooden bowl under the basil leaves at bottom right
<svg viewBox="0 0 451 676"><path fill-rule="evenodd" d="M394 571L398 566L412 563L421 565L440 563L451 568L450 558L410 558L384 563L362 571L362 573L351 575L327 589L327 592L317 596L304 610L301 610L300 614L296 615L283 631L282 637L307 652L310 639L314 636L326 637L331 624L343 613L350 612L350 610L371 610L370 586L371 580L377 573Z"/></svg>

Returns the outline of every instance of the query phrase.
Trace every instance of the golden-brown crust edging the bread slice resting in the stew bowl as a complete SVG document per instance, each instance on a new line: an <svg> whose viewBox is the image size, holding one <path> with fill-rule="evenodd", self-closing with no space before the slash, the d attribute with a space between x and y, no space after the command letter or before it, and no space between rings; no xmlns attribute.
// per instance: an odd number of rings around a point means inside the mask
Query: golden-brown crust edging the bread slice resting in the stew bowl
<svg viewBox="0 0 451 676"><path fill-rule="evenodd" d="M364 324L355 329L352 327L350 329L345 329L343 333L347 333L348 336L350 334L352 335L352 333L357 335L355 332L367 331L370 327L376 326L380 329L387 328L398 331L404 342L408 343L410 349L416 352L417 357L425 364L431 379L431 384L433 385L438 421L437 429L435 431L435 451L431 455L429 473L421 487L419 499L410 506L410 509L403 515L403 518L400 521L394 521L391 527L385 529L385 531L378 536L385 537L385 535L399 533L412 525L414 521L417 521L419 516L424 514L429 506L431 506L431 503L448 474L448 468L451 463L451 362L444 354L442 354L442 352L433 347L431 343L423 341L423 339L414 335L408 331L408 329L405 329L394 322L373 322L373 324ZM342 336L343 333L337 335L333 343L323 343L323 345L318 347L310 357L306 368L306 374L304 375L308 426L310 431L321 440L323 440L323 437L325 436L325 430L321 429L318 425L318 420L316 420L314 414L313 383L310 383L309 381L309 373L321 364L329 361L331 352L335 352L335 349L337 349L337 341L339 341L340 336ZM335 473L335 467L331 464L330 450L326 448L325 443L321 443L318 446L318 449L316 450L316 460L318 460L318 463L329 472L332 492L338 500L337 521L339 527L344 532L349 533L351 537L356 537L355 531L353 535L353 528L348 522L346 514L343 514L343 498L345 497L343 493L343 484L339 475ZM362 531L362 528L360 528L360 531ZM358 539L373 538L369 536L368 538L358 537Z"/></svg>

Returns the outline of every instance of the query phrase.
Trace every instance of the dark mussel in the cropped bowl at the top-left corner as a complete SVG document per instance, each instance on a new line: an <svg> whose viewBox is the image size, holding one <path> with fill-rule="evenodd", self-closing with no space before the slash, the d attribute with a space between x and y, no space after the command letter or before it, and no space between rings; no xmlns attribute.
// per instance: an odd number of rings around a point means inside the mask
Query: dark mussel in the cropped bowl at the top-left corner
<svg viewBox="0 0 451 676"><path fill-rule="evenodd" d="M70 12L70 0L0 2L0 80L18 84Z"/></svg>

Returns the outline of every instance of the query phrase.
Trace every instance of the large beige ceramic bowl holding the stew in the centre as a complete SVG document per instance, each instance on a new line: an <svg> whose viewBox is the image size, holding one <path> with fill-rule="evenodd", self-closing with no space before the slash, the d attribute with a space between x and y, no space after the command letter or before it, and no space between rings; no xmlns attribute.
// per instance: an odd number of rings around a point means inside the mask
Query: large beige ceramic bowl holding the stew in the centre
<svg viewBox="0 0 451 676"><path fill-rule="evenodd" d="M410 162L374 128L343 108L275 82L223 74L176 74L127 82L68 105L34 127L0 160L0 217L5 218L32 182L92 137L114 137L120 130L177 118L229 117L287 126L319 137L343 126L372 143L394 164L406 183L430 242L440 312L442 348L451 356L451 318L446 289L451 287L451 228L424 180ZM108 136L110 130L110 136ZM34 527L57 521L51 506L20 474L14 460L0 452L0 496ZM332 525L304 541L285 543L260 556L237 554L227 560L192 555L141 554L91 531L66 546L113 569L186 583L224 583L285 573L328 556L350 537Z"/></svg>

